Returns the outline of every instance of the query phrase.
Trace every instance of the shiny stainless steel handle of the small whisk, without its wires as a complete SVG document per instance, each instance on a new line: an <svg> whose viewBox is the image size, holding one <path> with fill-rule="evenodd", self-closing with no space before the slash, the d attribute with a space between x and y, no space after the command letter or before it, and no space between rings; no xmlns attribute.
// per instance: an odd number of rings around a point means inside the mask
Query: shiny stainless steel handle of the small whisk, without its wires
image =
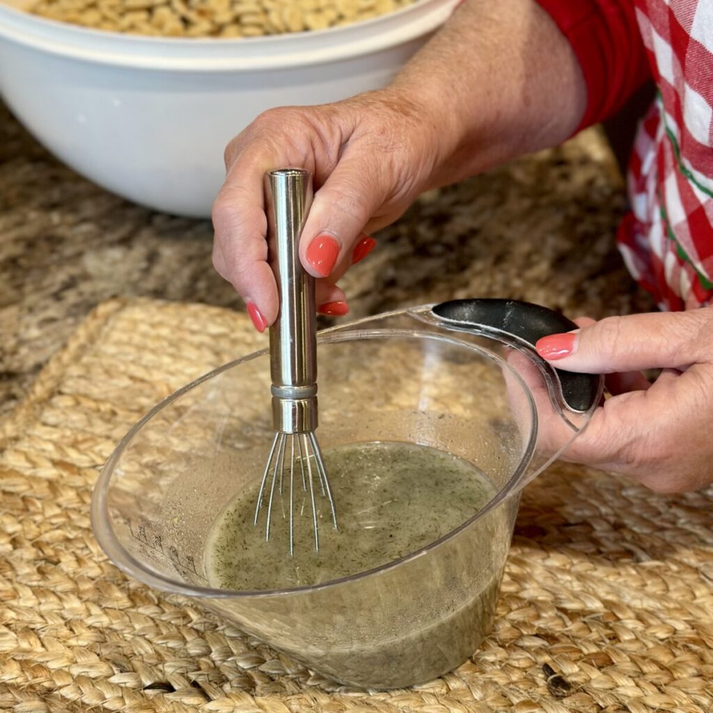
<svg viewBox="0 0 713 713"><path fill-rule="evenodd" d="M312 174L282 168L265 175L268 261L277 281L279 312L270 328L275 429L317 427L317 317L314 278L299 261L299 236L312 205Z"/></svg>

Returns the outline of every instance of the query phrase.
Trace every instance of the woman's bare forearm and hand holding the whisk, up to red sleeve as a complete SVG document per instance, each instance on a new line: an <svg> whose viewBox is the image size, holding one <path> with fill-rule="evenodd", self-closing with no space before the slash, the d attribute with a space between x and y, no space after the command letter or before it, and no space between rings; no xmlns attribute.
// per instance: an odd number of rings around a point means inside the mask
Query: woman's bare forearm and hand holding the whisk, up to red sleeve
<svg viewBox="0 0 713 713"><path fill-rule="evenodd" d="M314 202L300 258L322 312L344 314L337 279L422 190L567 138L586 87L570 44L534 0L466 0L389 88L267 111L232 140L213 206L213 262L262 332L277 316L263 175L306 168Z"/></svg>

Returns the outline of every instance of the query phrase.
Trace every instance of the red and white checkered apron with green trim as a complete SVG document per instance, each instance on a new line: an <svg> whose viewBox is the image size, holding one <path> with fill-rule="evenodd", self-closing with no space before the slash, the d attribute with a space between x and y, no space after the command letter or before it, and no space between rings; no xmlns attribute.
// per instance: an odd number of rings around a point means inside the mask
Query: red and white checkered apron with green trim
<svg viewBox="0 0 713 713"><path fill-rule="evenodd" d="M636 0L659 95L640 125L619 231L662 309L713 302L713 0Z"/></svg>

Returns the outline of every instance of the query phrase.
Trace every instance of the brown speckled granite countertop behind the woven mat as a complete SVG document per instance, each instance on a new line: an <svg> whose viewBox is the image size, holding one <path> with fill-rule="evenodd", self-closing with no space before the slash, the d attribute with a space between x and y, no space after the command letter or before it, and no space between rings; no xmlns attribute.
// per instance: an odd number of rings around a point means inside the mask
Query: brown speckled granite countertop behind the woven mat
<svg viewBox="0 0 713 713"><path fill-rule="evenodd" d="M212 227L84 180L0 104L0 414L99 302L144 296L243 309L212 269ZM344 278L352 315L452 297L513 297L575 317L651 309L615 247L625 197L590 129L423 195ZM324 321L324 324L327 324Z"/></svg>

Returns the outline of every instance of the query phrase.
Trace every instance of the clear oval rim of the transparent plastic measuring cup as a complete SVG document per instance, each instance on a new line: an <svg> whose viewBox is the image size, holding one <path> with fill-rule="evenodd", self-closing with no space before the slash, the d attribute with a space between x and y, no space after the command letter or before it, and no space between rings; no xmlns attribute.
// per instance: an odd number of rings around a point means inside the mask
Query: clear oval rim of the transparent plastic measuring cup
<svg viewBox="0 0 713 713"><path fill-rule="evenodd" d="M148 412L148 414L145 414L145 416L143 416L140 421L134 424L134 426L118 443L115 450L101 469L101 473L99 474L96 480L95 486L93 488L90 509L91 527L94 536L99 546L102 548L104 553L106 553L111 562L124 573L147 585L150 585L160 590L183 595L209 597L212 599L252 599L309 593L317 590L334 588L340 585L347 585L356 580L361 580L362 578L370 577L371 575L384 573L406 562L415 560L416 558L419 558L422 555L429 553L431 550L434 550L443 543L446 543L446 541L455 538L459 533L461 533L466 528L469 528L477 520L480 520L481 518L488 515L488 513L491 513L491 511L501 506L506 500L511 497L511 495L517 493L519 490L518 486L520 486L520 482L523 480L523 477L526 476L526 474L528 473L528 466L532 459L533 453L535 452L535 443L538 434L537 407L533 399L533 395L531 394L530 389L528 388L523 378L520 376L520 374L518 374L518 372L513 368L513 366L508 364L508 362L498 354L491 352L485 347L480 347L476 344L473 344L472 342L466 342L463 339L453 337L452 334L438 334L436 332L428 332L424 329L390 329L384 327L372 329L354 329L355 325L359 326L359 324L368 322L371 319L381 319L391 314L404 314L404 312L401 310L388 312L386 314L376 315L375 317L367 317L366 319L359 320L359 322L355 322L352 324L339 325L330 329L324 329L317 334L318 343L334 344L360 339L378 339L384 337L416 337L417 339L434 339L438 342L453 344L456 347L464 347L470 350L471 352L475 352L479 356L485 357L486 359L492 361L494 364L496 364L496 366L500 367L501 369L507 369L509 375L513 376L513 378L520 385L520 388L525 394L526 402L529 406L530 411L530 432L528 434L528 438L523 439L525 441L523 454L520 457L520 462L518 463L518 466L515 468L510 478L508 478L508 481L506 481L506 483L503 483L503 486L498 488L498 491L493 496L493 498L488 501L486 506L481 508L481 510L479 510L478 512L474 513L471 518L465 520L463 523L461 523L461 525L458 525L457 528L453 528L453 530L441 536L441 538L434 540L432 543L429 543L428 545L420 548L419 550L414 550L414 552L408 553L407 555L404 555L401 558L391 560L388 563L379 565L369 570L365 570L364 572L359 572L354 575L329 580L327 582L322 582L315 585L302 585L299 587L274 590L227 590L181 583L178 582L178 580L169 578L166 575L156 573L155 571L146 568L145 565L140 563L138 560L136 560L136 558L133 557L133 555L131 555L130 553L128 553L127 550L125 550L123 545L116 537L114 529L111 525L111 518L109 518L108 516L107 493L108 483L111 479L113 471L115 470L118 462L120 461L123 452L133 440L133 437L138 434L138 431L140 431L143 426L145 426L145 424L147 424L151 419L153 419L153 416L158 414L159 411L163 410L166 406L172 404L173 401L179 399L181 396L183 396L183 394L187 393L192 389L195 389L197 386L200 386L200 384L202 384L204 381L209 381L210 379L215 378L215 376L219 376L228 369L233 369L236 366L240 366L240 364L244 364L247 361L257 359L260 356L266 356L270 353L269 349L261 349L259 352L252 352L252 354L247 354L247 356L242 356L240 359L235 359L234 361L230 361L227 364L219 366L217 369L213 369L212 371L207 372L207 374L203 374L202 376L198 377L198 379L191 381L190 384L186 384L185 386L181 387L180 389L178 389L178 391L175 391L166 399L160 401L159 404L156 404L153 409Z"/></svg>

